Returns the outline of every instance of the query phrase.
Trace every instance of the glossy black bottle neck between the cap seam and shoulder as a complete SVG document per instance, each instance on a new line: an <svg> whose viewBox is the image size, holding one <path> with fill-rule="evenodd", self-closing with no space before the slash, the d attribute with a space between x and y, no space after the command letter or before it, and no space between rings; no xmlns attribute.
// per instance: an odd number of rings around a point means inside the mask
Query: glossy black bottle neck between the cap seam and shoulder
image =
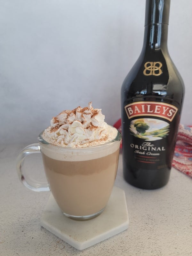
<svg viewBox="0 0 192 256"><path fill-rule="evenodd" d="M168 24L156 23L145 26L143 50L167 51Z"/></svg>

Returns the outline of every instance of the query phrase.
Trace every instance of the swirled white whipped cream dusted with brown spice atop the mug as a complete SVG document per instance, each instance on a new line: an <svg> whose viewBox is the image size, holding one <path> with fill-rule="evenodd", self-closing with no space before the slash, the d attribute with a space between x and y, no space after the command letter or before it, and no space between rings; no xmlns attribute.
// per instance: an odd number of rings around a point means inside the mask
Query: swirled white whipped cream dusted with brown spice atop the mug
<svg viewBox="0 0 192 256"><path fill-rule="evenodd" d="M70 148L97 146L111 140L117 135L116 128L108 125L101 109L77 107L64 110L51 120L51 126L44 130L42 137L50 144Z"/></svg>

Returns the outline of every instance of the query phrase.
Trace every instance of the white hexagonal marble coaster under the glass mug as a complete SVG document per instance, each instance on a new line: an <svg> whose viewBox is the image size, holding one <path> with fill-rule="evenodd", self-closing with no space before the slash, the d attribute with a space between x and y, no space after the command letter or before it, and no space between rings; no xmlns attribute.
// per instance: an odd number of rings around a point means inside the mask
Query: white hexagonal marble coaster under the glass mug
<svg viewBox="0 0 192 256"><path fill-rule="evenodd" d="M96 218L84 221L64 216L51 194L40 223L68 244L83 250L128 228L124 190L114 186L104 211Z"/></svg>

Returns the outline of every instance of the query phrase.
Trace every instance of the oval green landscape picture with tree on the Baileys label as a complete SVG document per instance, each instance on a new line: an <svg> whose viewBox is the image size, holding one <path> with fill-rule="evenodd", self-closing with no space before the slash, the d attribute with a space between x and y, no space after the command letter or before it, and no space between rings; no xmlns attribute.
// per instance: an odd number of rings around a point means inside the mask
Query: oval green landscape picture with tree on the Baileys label
<svg viewBox="0 0 192 256"><path fill-rule="evenodd" d="M146 141L161 140L169 134L170 125L153 118L134 119L130 123L131 134Z"/></svg>

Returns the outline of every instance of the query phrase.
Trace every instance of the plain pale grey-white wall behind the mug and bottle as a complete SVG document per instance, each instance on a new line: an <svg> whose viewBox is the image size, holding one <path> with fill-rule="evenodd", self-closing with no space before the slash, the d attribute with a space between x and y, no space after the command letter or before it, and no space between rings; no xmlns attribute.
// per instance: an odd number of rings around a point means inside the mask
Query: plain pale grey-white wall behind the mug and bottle
<svg viewBox="0 0 192 256"><path fill-rule="evenodd" d="M192 124L192 2L172 0L168 47ZM0 141L37 142L64 109L120 117L120 87L140 54L144 0L0 0Z"/></svg>

